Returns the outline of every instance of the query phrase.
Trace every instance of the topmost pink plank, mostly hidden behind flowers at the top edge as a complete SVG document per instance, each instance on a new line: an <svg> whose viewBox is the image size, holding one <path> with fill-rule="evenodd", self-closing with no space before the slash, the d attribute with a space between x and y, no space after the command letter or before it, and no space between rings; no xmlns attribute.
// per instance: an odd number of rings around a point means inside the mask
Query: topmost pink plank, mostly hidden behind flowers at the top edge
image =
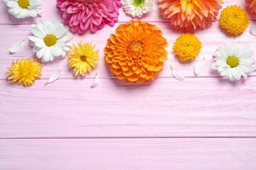
<svg viewBox="0 0 256 170"><path fill-rule="evenodd" d="M226 6L230 5L237 5L239 7L242 7L244 9L247 9L247 12L249 13L249 18L250 19L255 19L255 16L251 15L251 9L248 9L245 5L244 0L226 0L224 1L224 4L222 5L223 8ZM161 12L158 10L158 5L157 1L153 1L153 7L150 12L147 14L144 14L142 18L132 18L131 16L127 16L125 11L123 10L123 7L119 9L119 22L127 22L129 20L143 20L143 21L157 21L157 22L166 22L163 20L161 17ZM60 22L64 22L64 19L62 18L62 12L58 9L56 9L56 1L42 1L42 10L43 10L43 16L37 16L36 18L26 18L26 19L21 19L18 20L14 18L11 14L7 12L7 7L6 5L1 1L0 2L0 16L5 16L1 17L0 24L31 24L35 23L36 20L38 19L43 19L43 20L53 20L56 19ZM219 16L221 14L221 10L219 12ZM219 16L217 18L219 18ZM106 27L110 27L109 25L106 25Z"/></svg>

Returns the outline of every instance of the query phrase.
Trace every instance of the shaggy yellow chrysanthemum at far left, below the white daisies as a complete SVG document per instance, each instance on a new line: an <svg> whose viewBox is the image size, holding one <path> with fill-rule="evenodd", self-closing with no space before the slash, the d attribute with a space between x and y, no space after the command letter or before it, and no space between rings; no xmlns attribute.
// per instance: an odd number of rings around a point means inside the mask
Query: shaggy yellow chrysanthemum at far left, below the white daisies
<svg viewBox="0 0 256 170"><path fill-rule="evenodd" d="M26 87L27 85L31 86L33 84L35 77L41 76L39 72L43 69L43 66L33 59L24 60L22 58L20 61L17 59L16 63L12 61L12 67L7 67L7 69L10 70L5 74L9 76L7 80L11 80L11 83L24 84Z"/></svg>

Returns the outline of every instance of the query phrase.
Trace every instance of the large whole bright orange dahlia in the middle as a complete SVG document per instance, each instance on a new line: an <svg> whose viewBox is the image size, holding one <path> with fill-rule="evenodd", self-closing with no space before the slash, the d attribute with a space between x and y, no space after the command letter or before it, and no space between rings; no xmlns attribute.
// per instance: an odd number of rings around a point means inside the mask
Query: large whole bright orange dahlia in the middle
<svg viewBox="0 0 256 170"><path fill-rule="evenodd" d="M167 41L161 30L148 22L120 24L104 48L113 75L124 82L148 82L163 70Z"/></svg>

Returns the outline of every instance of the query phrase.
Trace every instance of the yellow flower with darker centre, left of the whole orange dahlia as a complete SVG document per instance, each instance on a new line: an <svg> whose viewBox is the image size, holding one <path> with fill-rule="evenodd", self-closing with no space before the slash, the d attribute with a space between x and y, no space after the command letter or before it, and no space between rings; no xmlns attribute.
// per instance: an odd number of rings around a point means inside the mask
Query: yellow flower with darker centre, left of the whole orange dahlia
<svg viewBox="0 0 256 170"><path fill-rule="evenodd" d="M68 54L68 67L75 67L73 73L75 76L78 74L85 76L88 72L91 72L91 67L95 68L95 65L98 64L96 60L98 60L98 50L93 51L95 45L92 46L92 43L86 44L82 41L77 43L78 46L73 44L73 47Z"/></svg>

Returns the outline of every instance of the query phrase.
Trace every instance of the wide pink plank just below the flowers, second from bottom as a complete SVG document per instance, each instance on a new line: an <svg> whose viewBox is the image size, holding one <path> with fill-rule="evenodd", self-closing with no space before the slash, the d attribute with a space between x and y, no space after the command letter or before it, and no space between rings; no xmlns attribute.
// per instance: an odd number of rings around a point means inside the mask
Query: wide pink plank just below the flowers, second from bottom
<svg viewBox="0 0 256 170"><path fill-rule="evenodd" d="M0 81L0 137L256 137L256 78Z"/></svg>

